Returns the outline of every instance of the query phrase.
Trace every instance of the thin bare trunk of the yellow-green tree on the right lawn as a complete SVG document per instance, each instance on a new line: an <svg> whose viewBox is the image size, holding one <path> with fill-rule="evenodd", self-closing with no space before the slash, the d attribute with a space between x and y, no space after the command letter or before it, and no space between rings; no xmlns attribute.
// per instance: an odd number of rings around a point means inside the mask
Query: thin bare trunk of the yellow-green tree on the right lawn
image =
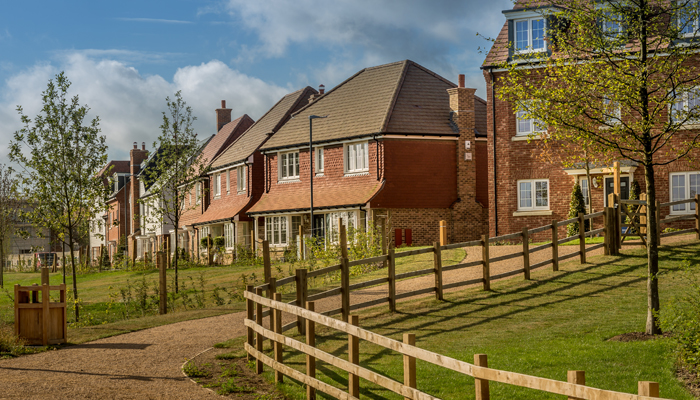
<svg viewBox="0 0 700 400"><path fill-rule="evenodd" d="M656 221L656 187L654 186L654 167L650 163L644 166L647 185L647 325L648 335L661 333L659 327L659 235Z"/></svg>

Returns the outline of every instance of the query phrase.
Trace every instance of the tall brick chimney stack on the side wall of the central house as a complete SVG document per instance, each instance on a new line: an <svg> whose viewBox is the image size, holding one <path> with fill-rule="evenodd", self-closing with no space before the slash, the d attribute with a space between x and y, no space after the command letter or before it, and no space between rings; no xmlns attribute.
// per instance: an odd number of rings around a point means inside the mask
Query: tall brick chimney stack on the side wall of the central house
<svg viewBox="0 0 700 400"><path fill-rule="evenodd" d="M488 214L476 201L476 134L475 134L475 98L476 89L464 87L464 75L459 75L458 87L447 89L450 96L452 122L459 129L457 141L457 194L459 201L454 205L454 212L460 215L454 218L452 238L454 242L478 239L482 232L477 231L473 221L488 224ZM485 215L486 214L486 215ZM484 228L486 229L486 228Z"/></svg>

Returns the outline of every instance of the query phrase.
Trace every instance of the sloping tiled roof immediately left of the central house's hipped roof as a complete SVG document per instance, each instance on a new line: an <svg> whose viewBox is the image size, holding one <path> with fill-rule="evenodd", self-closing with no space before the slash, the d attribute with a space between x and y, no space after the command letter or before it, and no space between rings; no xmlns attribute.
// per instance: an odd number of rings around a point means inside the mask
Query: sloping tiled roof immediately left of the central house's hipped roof
<svg viewBox="0 0 700 400"><path fill-rule="evenodd" d="M289 116L308 104L309 97L316 93L318 92L315 89L307 86L282 97L238 140L221 152L221 155L212 163L212 169L238 163L250 157L270 134L277 132L280 126L287 122Z"/></svg>

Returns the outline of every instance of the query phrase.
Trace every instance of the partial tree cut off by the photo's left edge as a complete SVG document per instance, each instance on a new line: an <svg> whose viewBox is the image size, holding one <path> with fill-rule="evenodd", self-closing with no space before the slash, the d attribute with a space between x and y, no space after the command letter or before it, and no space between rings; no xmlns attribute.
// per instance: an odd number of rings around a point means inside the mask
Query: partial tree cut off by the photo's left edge
<svg viewBox="0 0 700 400"><path fill-rule="evenodd" d="M10 236L15 233L18 210L21 207L17 192L17 179L12 176L12 169L0 165L0 288L4 286L3 271L5 270L5 249L8 247Z"/></svg>

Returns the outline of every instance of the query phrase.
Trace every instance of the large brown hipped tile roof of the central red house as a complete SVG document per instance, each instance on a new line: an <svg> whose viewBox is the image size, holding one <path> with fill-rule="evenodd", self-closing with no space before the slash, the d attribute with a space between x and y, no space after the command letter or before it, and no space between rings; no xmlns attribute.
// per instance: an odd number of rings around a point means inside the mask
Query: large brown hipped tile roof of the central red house
<svg viewBox="0 0 700 400"><path fill-rule="evenodd" d="M262 149L308 143L310 115L329 116L314 123L321 143L376 133L454 135L447 89L455 86L409 60L365 68L301 109Z"/></svg>

